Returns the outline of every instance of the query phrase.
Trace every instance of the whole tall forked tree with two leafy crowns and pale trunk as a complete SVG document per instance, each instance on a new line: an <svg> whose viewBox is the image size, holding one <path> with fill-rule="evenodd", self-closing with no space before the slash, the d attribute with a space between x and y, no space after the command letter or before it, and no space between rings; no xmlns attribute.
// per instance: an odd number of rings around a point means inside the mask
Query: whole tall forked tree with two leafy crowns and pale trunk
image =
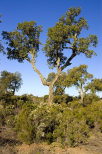
<svg viewBox="0 0 102 154"><path fill-rule="evenodd" d="M88 29L87 21L84 18L78 18L80 13L80 8L70 8L54 27L48 29L48 38L43 50L48 58L48 64L57 70L51 82L48 82L35 66L41 44L39 41L41 26L37 26L34 21L23 22L18 24L15 31L3 32L3 38L8 44L7 57L17 59L19 62L27 60L31 63L34 71L40 76L42 84L49 87L49 105L53 103L54 84L60 73L71 65L72 59L80 53L89 58L95 54L89 47L96 47L97 37L95 35L89 35L86 38L80 36L83 29ZM71 51L70 56L64 55L65 49L67 49L67 55Z"/></svg>

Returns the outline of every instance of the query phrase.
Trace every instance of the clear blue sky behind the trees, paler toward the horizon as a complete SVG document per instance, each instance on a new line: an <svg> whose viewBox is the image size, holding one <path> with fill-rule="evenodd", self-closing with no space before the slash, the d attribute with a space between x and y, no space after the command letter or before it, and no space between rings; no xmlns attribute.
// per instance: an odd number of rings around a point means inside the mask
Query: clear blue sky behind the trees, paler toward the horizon
<svg viewBox="0 0 102 154"><path fill-rule="evenodd" d="M97 56L91 59L83 55L76 57L72 65L68 68L87 64L88 71L96 78L102 78L102 0L0 0L0 14L2 14L2 30L12 31L17 23L34 20L38 25L43 26L41 34L42 43L45 42L47 29L52 27L70 7L80 7L81 16L84 16L89 24L89 31L83 35L96 34L98 36L98 46L95 48ZM52 70L48 69L46 58L42 51L37 58L37 67L47 76ZM28 62L18 63L16 60L9 61L5 56L0 55L0 71L20 72L22 74L23 85L16 94L33 94L43 96L48 94L48 88L41 84L38 75L33 71ZM67 90L66 93L74 95L75 89Z"/></svg>

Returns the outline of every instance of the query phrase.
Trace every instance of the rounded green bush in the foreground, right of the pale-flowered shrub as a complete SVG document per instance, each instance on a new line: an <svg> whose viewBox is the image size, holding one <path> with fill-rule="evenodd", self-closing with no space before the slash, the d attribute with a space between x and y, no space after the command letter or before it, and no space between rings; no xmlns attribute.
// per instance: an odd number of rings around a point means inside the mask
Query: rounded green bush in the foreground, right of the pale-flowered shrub
<svg viewBox="0 0 102 154"><path fill-rule="evenodd" d="M60 138L63 144L77 146L87 141L89 128L81 110L79 112L76 109L66 108L59 120L60 125L55 130L54 136Z"/></svg>

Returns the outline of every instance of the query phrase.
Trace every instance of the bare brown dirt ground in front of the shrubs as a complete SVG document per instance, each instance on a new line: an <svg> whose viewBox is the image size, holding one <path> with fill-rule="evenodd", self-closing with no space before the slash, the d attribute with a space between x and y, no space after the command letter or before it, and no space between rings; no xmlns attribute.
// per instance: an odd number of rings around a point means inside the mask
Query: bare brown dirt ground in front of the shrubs
<svg viewBox="0 0 102 154"><path fill-rule="evenodd" d="M0 154L102 154L102 134L95 134L88 144L70 148L43 144L21 144L12 130L0 129Z"/></svg>

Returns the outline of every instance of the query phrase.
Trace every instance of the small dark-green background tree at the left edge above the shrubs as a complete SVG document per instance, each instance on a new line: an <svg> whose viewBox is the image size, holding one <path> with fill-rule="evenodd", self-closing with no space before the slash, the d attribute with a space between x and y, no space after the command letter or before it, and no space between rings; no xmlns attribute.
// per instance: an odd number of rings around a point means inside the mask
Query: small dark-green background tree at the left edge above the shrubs
<svg viewBox="0 0 102 154"><path fill-rule="evenodd" d="M0 92L4 93L12 93L15 94L15 91L18 91L21 87L22 79L21 74L10 73L7 71L2 71L0 76Z"/></svg>

